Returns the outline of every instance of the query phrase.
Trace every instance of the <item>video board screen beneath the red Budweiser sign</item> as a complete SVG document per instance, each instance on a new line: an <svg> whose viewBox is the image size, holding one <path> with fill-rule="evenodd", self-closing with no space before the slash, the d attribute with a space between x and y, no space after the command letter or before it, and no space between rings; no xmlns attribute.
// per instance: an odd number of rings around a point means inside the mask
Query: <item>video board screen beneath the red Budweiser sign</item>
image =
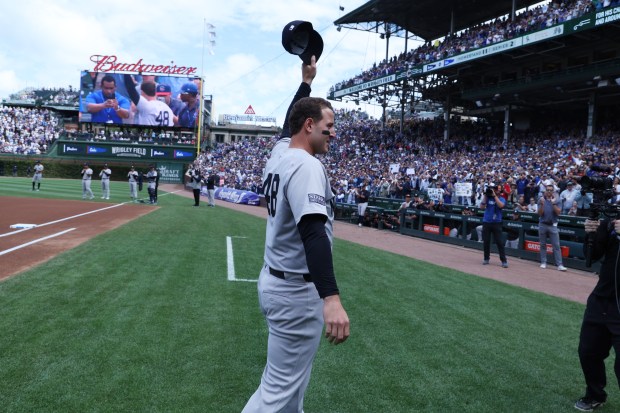
<svg viewBox="0 0 620 413"><path fill-rule="evenodd" d="M200 78L82 71L80 122L193 129Z"/></svg>

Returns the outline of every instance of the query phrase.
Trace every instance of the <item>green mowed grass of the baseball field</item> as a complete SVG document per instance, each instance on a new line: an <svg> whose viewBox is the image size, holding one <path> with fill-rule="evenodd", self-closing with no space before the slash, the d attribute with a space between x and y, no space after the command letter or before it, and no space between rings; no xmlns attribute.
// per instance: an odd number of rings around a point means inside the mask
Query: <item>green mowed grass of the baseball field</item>
<svg viewBox="0 0 620 413"><path fill-rule="evenodd" d="M1 195L87 202L77 180L42 188L0 178ZM113 182L111 201L128 196ZM0 283L0 411L241 411L267 331L256 283L227 279L226 239L236 277L255 279L265 221L191 204L160 196L157 211ZM574 411L583 305L342 240L334 261L351 337L322 343L306 413ZM600 411L617 412L608 366Z"/></svg>

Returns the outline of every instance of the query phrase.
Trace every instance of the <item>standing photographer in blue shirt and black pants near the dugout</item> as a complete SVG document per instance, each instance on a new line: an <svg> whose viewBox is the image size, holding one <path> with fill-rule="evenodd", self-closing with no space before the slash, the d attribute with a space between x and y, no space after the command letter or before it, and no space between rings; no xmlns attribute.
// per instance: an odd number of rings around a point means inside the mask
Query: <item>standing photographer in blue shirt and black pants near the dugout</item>
<svg viewBox="0 0 620 413"><path fill-rule="evenodd" d="M480 207L484 209L482 218L482 242L484 248L484 260L482 265L488 265L491 257L491 235L499 252L502 268L508 268L506 251L502 243L502 210L506 205L506 199L499 196L500 186L490 184L482 197Z"/></svg>

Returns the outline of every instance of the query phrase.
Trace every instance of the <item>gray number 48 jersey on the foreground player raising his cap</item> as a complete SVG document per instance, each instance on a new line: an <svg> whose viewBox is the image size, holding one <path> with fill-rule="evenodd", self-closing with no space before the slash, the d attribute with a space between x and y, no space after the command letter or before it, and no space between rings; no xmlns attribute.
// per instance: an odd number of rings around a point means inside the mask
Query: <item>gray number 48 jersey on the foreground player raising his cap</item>
<svg viewBox="0 0 620 413"><path fill-rule="evenodd" d="M265 263L280 271L309 273L297 224L304 215L327 217L325 231L332 243L334 194L323 164L303 149L289 148L290 139L276 143L263 175L267 201Z"/></svg>

